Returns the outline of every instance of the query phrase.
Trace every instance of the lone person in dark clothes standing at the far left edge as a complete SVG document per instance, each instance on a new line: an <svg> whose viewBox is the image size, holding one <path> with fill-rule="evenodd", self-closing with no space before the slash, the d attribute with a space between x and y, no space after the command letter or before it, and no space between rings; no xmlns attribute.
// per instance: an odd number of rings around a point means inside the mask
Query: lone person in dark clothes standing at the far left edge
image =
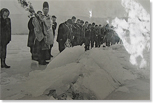
<svg viewBox="0 0 153 103"><path fill-rule="evenodd" d="M6 65L7 45L11 41L11 19L10 11L6 8L0 11L0 58L1 68L10 68Z"/></svg>

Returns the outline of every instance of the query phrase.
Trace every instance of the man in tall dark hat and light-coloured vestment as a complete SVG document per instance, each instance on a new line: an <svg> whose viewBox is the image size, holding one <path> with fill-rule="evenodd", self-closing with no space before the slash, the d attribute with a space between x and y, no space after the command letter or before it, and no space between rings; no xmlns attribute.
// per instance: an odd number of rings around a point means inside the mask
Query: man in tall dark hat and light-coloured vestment
<svg viewBox="0 0 153 103"><path fill-rule="evenodd" d="M46 43L47 45L49 45L49 50L48 52L46 52L46 60L50 60L51 57L53 57L51 55L51 49L53 47L54 44L54 36L53 36L53 29L52 29L52 18L51 16L48 14L49 12L49 4L48 2L44 2L43 3L43 14L44 14L44 18L43 18L43 32L46 35Z"/></svg>

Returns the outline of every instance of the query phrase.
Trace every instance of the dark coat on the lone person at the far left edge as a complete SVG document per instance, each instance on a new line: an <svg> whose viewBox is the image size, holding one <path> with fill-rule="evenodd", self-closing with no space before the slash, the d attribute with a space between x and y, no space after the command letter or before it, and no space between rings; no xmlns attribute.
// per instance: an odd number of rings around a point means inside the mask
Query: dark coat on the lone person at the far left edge
<svg viewBox="0 0 153 103"><path fill-rule="evenodd" d="M0 18L0 45L7 45L11 41L11 19Z"/></svg>

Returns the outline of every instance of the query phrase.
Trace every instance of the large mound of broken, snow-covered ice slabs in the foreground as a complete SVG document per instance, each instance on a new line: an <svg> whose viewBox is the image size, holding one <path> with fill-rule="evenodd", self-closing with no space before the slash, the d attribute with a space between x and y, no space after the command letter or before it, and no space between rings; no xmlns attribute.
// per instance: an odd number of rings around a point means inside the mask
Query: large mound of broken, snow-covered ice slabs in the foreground
<svg viewBox="0 0 153 103"><path fill-rule="evenodd" d="M84 52L78 46L64 50L45 70L31 72L23 89L32 96L47 94L54 99L104 99L125 80L136 78L123 69L112 50Z"/></svg>

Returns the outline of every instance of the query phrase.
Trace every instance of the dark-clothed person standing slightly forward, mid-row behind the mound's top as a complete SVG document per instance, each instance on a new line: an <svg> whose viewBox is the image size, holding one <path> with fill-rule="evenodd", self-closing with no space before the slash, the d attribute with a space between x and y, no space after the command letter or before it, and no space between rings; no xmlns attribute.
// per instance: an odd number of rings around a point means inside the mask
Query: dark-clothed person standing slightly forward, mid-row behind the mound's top
<svg viewBox="0 0 153 103"><path fill-rule="evenodd" d="M89 50L91 38L91 24L85 29L85 51Z"/></svg>

